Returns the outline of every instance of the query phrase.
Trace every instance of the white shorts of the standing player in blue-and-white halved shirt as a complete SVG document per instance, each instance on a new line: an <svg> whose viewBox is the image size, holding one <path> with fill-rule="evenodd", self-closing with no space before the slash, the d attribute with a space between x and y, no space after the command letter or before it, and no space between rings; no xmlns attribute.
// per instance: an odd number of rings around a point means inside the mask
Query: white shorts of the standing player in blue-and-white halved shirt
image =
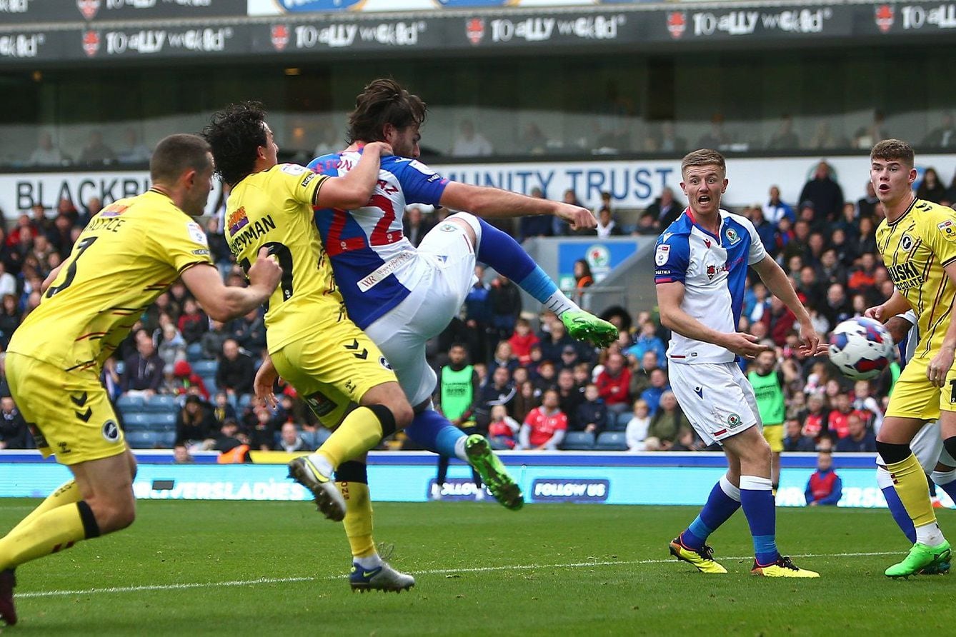
<svg viewBox="0 0 956 637"><path fill-rule="evenodd" d="M706 444L760 424L757 398L736 363L675 363L667 366L670 389Z"/></svg>

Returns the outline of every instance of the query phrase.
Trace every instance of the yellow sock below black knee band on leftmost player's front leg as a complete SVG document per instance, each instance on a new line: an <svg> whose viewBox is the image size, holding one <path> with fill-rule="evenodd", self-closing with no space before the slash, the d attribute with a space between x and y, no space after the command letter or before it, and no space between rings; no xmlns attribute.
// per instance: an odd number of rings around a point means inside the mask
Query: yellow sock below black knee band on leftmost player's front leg
<svg viewBox="0 0 956 637"><path fill-rule="evenodd" d="M84 538L79 509L72 504L57 506L33 517L29 523L21 522L0 540L0 569L70 548Z"/></svg>

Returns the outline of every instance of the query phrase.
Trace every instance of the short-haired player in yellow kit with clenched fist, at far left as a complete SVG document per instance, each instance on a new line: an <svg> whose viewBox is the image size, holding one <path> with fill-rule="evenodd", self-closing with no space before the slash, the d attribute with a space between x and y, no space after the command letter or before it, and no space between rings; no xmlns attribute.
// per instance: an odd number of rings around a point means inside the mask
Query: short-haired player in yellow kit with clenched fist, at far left
<svg viewBox="0 0 956 637"><path fill-rule="evenodd" d="M223 285L192 220L203 214L212 170L202 138L164 138L150 160L149 191L90 221L13 333L6 358L13 399L43 455L55 455L74 479L0 540L0 617L8 625L16 623L16 566L119 531L136 515L136 460L99 373L142 311L182 278L209 316L228 321L262 305L279 282L280 267L259 259L250 287Z"/></svg>

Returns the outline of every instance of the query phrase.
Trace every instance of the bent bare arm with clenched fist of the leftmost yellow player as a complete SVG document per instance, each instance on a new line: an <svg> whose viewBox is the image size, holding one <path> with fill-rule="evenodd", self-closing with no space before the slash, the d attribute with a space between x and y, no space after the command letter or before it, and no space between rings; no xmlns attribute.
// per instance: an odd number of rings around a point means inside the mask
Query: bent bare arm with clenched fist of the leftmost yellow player
<svg viewBox="0 0 956 637"><path fill-rule="evenodd" d="M282 268L269 258L269 249L264 247L249 268L249 287L226 286L219 270L211 264L193 265L186 268L181 276L185 287L189 288L206 314L225 323L269 300L282 278Z"/></svg>

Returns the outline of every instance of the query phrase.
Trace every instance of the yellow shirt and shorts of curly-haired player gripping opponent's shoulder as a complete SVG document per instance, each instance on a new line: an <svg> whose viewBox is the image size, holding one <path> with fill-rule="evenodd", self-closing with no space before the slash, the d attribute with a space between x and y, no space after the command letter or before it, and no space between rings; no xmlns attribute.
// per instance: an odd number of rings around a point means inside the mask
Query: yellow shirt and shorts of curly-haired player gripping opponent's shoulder
<svg viewBox="0 0 956 637"><path fill-rule="evenodd" d="M232 188L226 240L249 269L269 249L282 281L269 299L272 364L327 427L376 385L397 382L378 347L349 319L315 228L314 207L329 179L295 164L254 173Z"/></svg>

